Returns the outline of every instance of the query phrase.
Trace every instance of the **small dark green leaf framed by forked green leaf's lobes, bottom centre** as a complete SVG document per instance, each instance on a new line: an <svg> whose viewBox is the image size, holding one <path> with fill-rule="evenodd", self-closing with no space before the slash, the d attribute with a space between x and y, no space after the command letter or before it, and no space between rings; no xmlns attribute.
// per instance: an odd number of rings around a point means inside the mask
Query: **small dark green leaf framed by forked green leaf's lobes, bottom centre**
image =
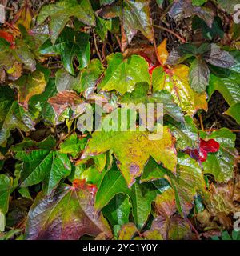
<svg viewBox="0 0 240 256"><path fill-rule="evenodd" d="M116 194L115 197L102 209L102 213L112 226L124 225L129 222L131 204L125 194Z"/></svg>

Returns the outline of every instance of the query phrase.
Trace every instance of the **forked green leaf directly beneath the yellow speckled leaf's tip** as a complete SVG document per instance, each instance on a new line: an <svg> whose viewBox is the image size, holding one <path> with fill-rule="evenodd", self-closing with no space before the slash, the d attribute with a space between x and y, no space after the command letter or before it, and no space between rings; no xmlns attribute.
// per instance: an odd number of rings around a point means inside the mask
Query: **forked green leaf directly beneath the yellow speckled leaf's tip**
<svg viewBox="0 0 240 256"><path fill-rule="evenodd" d="M134 220L138 228L144 226L151 210L151 202L156 197L156 190L148 184L134 185L129 189L119 170L110 170L105 174L96 195L96 208L102 209L116 194L123 193L130 197Z"/></svg>

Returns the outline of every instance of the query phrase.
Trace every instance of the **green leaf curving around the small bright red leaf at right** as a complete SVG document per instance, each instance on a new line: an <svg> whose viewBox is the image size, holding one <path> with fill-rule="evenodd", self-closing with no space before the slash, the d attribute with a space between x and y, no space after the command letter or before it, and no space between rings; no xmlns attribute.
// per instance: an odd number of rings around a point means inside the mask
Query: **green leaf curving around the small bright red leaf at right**
<svg viewBox="0 0 240 256"><path fill-rule="evenodd" d="M217 182L228 182L233 176L238 152L234 149L235 134L226 128L214 131L212 134L202 134L202 138L214 139L220 144L217 153L210 153L206 162L202 162L206 174L213 174Z"/></svg>

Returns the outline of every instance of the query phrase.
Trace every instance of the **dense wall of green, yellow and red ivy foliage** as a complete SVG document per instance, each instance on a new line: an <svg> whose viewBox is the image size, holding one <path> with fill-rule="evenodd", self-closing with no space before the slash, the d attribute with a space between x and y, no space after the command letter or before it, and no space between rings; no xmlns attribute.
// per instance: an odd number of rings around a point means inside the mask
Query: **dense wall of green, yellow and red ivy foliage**
<svg viewBox="0 0 240 256"><path fill-rule="evenodd" d="M240 239L238 1L5 3L0 239ZM126 103L162 138L83 129Z"/></svg>

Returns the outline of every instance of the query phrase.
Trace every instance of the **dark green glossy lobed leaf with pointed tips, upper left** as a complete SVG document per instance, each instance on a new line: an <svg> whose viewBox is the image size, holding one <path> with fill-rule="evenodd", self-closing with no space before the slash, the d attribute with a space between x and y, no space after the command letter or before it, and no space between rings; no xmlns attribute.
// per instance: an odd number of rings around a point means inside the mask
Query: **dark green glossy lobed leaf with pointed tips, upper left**
<svg viewBox="0 0 240 256"><path fill-rule="evenodd" d="M73 60L75 56L78 58L80 69L86 67L90 61L89 38L89 34L78 33L70 27L66 27L55 44L52 44L50 39L46 40L39 48L39 53L59 54L66 71L74 75Z"/></svg>

